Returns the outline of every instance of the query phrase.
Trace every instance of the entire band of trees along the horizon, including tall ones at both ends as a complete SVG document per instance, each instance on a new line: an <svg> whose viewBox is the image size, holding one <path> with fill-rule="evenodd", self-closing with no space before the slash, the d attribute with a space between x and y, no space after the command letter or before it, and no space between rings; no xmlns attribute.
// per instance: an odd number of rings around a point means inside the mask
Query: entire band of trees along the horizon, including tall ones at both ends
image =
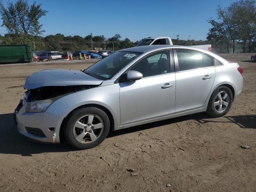
<svg viewBox="0 0 256 192"><path fill-rule="evenodd" d="M141 40L132 42L128 38L121 40L120 34L111 38L104 35L81 37L63 34L41 37L43 32L39 19L47 14L42 4L31 5L28 0L8 2L5 7L0 0L2 26L8 33L0 35L0 44L31 44L35 50L75 51L103 48L119 50L136 46ZM210 18L211 28L207 41L179 40L186 45L212 44L215 52L254 52L256 51L256 3L255 0L239 0L226 8L218 6L217 17ZM142 39L143 40L143 39ZM172 40L173 44L178 41Z"/></svg>

